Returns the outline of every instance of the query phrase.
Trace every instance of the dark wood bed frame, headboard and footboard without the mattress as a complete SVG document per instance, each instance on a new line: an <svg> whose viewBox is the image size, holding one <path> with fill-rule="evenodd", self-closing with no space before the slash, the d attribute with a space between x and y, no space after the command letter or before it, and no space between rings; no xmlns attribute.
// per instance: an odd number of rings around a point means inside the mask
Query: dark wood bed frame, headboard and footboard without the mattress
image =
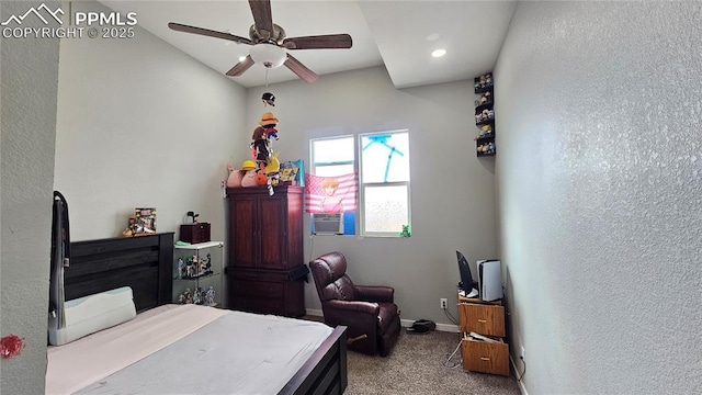
<svg viewBox="0 0 702 395"><path fill-rule="evenodd" d="M171 303L173 233L73 241L64 271L66 300L131 286L137 312ZM347 328L339 326L279 394L342 394Z"/></svg>

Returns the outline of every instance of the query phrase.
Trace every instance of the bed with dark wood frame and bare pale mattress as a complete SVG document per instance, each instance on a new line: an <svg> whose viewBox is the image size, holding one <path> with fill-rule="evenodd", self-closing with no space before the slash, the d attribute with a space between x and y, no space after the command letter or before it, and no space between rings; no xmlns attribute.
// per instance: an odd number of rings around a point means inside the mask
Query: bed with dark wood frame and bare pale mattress
<svg viewBox="0 0 702 395"><path fill-rule="evenodd" d="M47 394L341 394L346 390L346 327L170 304L172 233L70 246L66 300L128 286L138 314L68 345L49 347ZM177 326L181 324L185 328ZM172 341L171 332L177 332ZM293 334L308 337L307 342L288 341ZM249 348L252 345L256 351ZM100 353L95 359L100 362L88 362L86 352ZM286 354L302 358L291 362ZM279 362L292 369L273 364ZM262 381L245 380L256 375Z"/></svg>

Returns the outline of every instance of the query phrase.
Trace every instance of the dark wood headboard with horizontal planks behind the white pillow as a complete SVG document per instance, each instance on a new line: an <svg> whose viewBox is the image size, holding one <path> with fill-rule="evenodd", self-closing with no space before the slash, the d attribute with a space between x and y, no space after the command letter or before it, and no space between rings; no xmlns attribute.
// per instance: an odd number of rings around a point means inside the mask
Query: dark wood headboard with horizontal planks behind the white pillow
<svg viewBox="0 0 702 395"><path fill-rule="evenodd" d="M171 303L173 233L75 241L70 248L66 301L131 286L137 312Z"/></svg>

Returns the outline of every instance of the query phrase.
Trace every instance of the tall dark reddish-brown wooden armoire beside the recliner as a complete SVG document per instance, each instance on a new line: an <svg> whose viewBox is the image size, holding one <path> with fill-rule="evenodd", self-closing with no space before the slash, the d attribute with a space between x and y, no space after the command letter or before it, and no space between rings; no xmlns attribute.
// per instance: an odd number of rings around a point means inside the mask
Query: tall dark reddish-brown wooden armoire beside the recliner
<svg viewBox="0 0 702 395"><path fill-rule="evenodd" d="M229 308L305 315L303 188L227 188Z"/></svg>

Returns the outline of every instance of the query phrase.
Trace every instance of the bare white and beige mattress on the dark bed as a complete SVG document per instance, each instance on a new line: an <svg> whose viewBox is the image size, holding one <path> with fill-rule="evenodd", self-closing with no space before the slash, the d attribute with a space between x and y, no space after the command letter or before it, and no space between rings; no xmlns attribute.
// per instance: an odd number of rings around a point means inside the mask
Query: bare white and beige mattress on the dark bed
<svg viewBox="0 0 702 395"><path fill-rule="evenodd" d="M320 323L167 305L49 347L47 394L275 394L332 332Z"/></svg>

